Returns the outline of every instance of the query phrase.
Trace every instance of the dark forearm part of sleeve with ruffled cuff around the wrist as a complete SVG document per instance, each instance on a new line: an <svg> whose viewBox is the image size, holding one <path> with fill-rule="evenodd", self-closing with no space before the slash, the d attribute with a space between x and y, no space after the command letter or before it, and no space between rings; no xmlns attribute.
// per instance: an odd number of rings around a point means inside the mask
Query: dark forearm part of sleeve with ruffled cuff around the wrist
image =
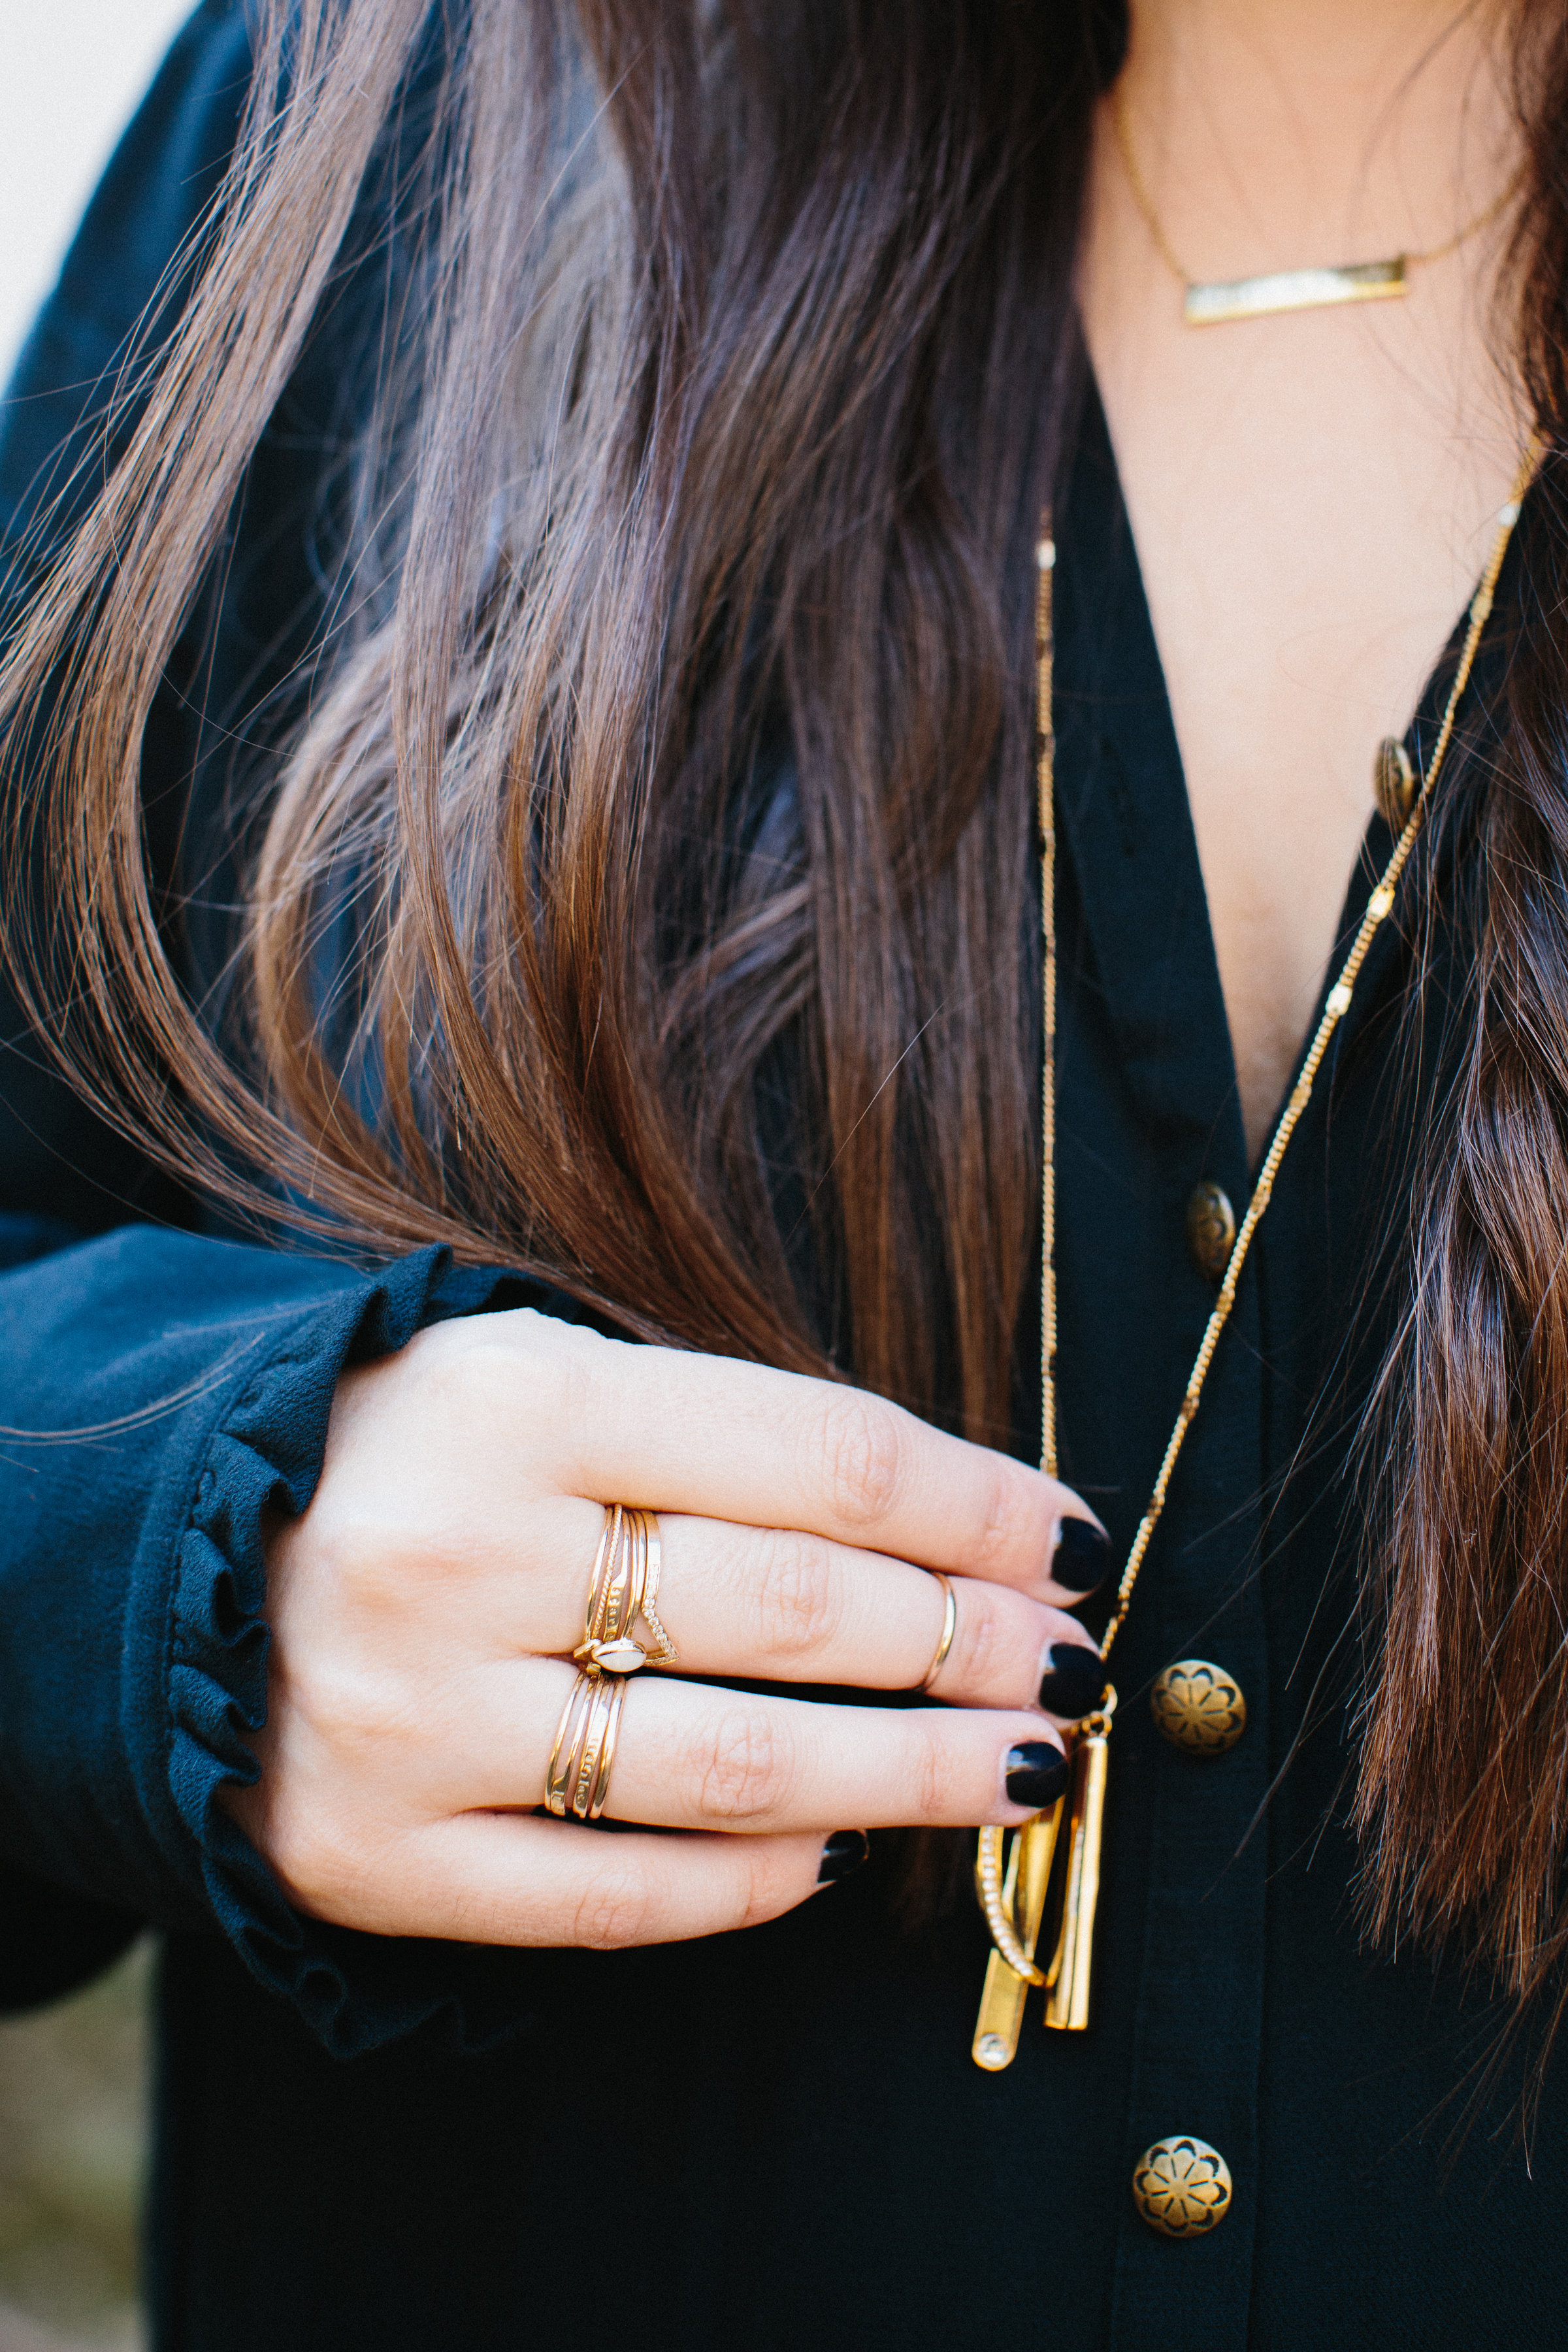
<svg viewBox="0 0 1568 2352"><path fill-rule="evenodd" d="M228 1936L336 2051L465 1992L465 2039L489 2032L484 1962L301 1919L216 1799L254 1778L244 1731L266 1717L263 1515L310 1501L339 1374L522 1303L564 1305L444 1251L360 1275L146 1225L0 1277L12 2002L148 1922Z"/></svg>

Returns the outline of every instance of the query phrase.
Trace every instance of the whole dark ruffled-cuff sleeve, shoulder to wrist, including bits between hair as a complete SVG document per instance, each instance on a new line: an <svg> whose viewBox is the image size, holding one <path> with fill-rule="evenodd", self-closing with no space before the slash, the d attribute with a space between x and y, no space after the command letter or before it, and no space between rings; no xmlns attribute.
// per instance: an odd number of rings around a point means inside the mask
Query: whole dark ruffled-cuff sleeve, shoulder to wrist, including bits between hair
<svg viewBox="0 0 1568 2352"><path fill-rule="evenodd" d="M242 0L202 0L21 355L0 412L0 628L49 539L33 527L68 520L52 496L101 480L118 353L148 303L167 320L181 299L247 75ZM376 202L364 301L386 294ZM247 736L247 710L308 675L310 517L364 341L348 278L252 466L212 640L193 640L148 727L148 842L160 896L186 910L174 953L195 1002L233 955L228 786L207 736ZM0 985L0 2006L82 1983L153 1924L230 1938L336 2051L435 2011L489 2039L524 2013L538 1957L299 1919L216 1792L254 1773L244 1731L266 1705L263 1512L308 1503L341 1369L447 1315L574 1310L433 1251L362 1275L179 1230L205 1214L89 1115Z"/></svg>

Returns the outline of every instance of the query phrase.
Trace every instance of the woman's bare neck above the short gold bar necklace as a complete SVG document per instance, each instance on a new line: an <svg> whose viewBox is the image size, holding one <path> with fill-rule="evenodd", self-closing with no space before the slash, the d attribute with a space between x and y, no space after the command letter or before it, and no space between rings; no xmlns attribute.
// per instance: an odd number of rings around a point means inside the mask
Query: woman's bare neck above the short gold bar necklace
<svg viewBox="0 0 1568 2352"><path fill-rule="evenodd" d="M1135 0L1121 99L1199 278L1439 245L1512 169L1507 21L1434 0Z"/></svg>

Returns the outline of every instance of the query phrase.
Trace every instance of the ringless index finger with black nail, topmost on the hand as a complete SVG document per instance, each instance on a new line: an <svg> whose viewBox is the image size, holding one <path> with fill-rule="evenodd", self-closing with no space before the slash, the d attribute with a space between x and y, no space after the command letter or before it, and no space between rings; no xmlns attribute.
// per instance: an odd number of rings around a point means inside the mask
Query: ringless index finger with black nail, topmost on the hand
<svg viewBox="0 0 1568 2352"><path fill-rule="evenodd" d="M564 1376L557 1475L592 1501L795 1526L1070 1602L1110 1564L1070 1486L863 1388L567 1324L548 1350Z"/></svg>

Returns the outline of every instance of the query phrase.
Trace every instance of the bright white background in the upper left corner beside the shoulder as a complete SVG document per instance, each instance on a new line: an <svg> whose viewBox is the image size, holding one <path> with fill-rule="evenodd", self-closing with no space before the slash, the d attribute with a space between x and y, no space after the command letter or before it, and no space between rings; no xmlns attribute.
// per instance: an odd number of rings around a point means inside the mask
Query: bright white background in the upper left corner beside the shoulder
<svg viewBox="0 0 1568 2352"><path fill-rule="evenodd" d="M0 0L0 381L195 0Z"/></svg>

